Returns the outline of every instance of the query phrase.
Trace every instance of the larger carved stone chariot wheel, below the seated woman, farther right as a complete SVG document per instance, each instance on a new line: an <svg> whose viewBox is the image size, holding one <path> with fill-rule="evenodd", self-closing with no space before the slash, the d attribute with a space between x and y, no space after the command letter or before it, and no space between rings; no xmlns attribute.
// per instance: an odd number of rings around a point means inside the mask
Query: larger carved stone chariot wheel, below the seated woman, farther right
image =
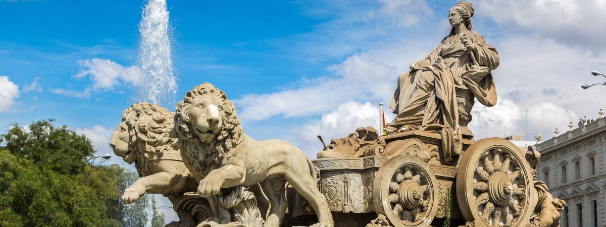
<svg viewBox="0 0 606 227"><path fill-rule="evenodd" d="M465 220L480 226L525 226L533 207L530 165L513 143L481 139L461 155L456 196Z"/></svg>

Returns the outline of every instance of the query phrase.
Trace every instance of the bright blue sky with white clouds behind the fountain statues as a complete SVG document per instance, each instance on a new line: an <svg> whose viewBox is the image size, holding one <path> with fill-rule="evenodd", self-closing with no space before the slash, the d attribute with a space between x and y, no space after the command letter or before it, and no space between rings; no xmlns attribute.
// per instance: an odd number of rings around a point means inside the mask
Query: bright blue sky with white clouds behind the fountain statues
<svg viewBox="0 0 606 227"><path fill-rule="evenodd" d="M603 81L590 71L606 71L599 17L606 3L472 2L473 30L502 60L493 73L499 104L474 107L476 137L523 135L527 109L528 137L541 131L549 138L569 120L598 117L606 101L592 97L606 88L580 85ZM99 153L111 152L108 138L136 89L129 74L78 74L137 67L144 4L0 2L0 131L53 118L87 134ZM314 158L321 150L316 135L328 140L378 125L376 104L388 104L398 74L447 35L456 1L167 4L178 91L163 105L174 110L187 90L211 82L235 101L250 136L287 140ZM99 87L103 76L118 79Z"/></svg>

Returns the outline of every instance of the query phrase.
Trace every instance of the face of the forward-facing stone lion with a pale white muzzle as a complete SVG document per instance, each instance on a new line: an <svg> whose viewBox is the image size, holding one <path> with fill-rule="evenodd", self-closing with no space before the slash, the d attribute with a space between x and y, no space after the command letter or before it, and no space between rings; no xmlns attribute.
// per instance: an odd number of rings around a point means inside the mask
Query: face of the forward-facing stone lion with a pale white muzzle
<svg viewBox="0 0 606 227"><path fill-rule="evenodd" d="M221 132L223 109L216 95L198 96L191 101L188 117L191 128L201 142L211 142Z"/></svg>

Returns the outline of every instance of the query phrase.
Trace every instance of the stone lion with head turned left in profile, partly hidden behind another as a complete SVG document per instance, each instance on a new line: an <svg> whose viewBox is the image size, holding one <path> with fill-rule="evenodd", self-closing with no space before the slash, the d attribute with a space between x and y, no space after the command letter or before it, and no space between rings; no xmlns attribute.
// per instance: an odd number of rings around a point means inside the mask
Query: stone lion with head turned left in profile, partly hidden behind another
<svg viewBox="0 0 606 227"><path fill-rule="evenodd" d="M167 226L194 226L191 211L179 209L185 191L195 191L198 182L185 167L181 153L173 149L176 139L169 136L174 128L175 113L155 104L139 102L122 114L122 122L110 140L117 156L127 163L135 162L138 180L124 191L122 201L133 203L145 192L164 194L178 210L179 222ZM173 136L175 137L175 136Z"/></svg>

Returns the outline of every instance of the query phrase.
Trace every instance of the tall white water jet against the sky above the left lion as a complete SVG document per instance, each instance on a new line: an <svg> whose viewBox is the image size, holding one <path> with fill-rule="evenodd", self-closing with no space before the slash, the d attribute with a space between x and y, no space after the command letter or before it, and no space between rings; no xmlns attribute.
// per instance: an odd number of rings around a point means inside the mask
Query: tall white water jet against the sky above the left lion
<svg viewBox="0 0 606 227"><path fill-rule="evenodd" d="M172 107L177 90L170 56L170 36L166 0L149 0L139 24L141 43L138 62L143 71L138 101ZM170 109L170 108L169 108Z"/></svg>

